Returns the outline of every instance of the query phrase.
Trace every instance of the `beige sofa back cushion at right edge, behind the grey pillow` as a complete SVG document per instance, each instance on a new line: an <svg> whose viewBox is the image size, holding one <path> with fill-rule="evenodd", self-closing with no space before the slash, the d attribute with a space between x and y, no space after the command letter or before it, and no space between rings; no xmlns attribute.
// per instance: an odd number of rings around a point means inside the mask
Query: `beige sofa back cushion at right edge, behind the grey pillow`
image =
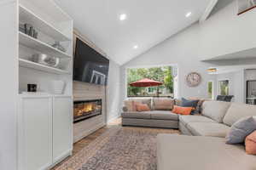
<svg viewBox="0 0 256 170"><path fill-rule="evenodd" d="M235 122L245 116L256 116L256 105L232 103L230 109L224 116L224 123L232 126Z"/></svg>

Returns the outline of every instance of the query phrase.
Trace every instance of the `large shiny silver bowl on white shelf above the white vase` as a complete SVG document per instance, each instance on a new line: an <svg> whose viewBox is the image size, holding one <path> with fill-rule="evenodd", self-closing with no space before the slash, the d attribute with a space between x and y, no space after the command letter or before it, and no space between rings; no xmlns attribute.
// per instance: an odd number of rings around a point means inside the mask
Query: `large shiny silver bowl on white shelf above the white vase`
<svg viewBox="0 0 256 170"><path fill-rule="evenodd" d="M51 67L58 67L60 64L60 58L51 57L47 54L33 54L32 61L41 65L48 65Z"/></svg>

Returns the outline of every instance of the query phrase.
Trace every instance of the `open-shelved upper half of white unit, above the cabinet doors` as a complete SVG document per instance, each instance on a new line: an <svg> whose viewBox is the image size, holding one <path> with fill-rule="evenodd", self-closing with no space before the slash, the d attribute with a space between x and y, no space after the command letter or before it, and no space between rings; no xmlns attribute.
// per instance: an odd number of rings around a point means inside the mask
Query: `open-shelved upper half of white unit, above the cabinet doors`
<svg viewBox="0 0 256 170"><path fill-rule="evenodd" d="M38 91L51 94L50 83L63 80L65 94L72 95L73 20L51 0L20 0L19 24L29 24L38 31L38 38L19 31L19 92L28 83L38 84ZM52 45L60 42L63 52ZM47 54L60 58L57 68L32 61L33 54Z"/></svg>

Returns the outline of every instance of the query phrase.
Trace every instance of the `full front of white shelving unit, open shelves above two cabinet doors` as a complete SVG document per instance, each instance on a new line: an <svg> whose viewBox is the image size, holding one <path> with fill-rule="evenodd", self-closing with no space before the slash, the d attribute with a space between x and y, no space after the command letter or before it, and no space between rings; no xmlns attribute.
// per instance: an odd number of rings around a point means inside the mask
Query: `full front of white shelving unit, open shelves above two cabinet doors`
<svg viewBox="0 0 256 170"><path fill-rule="evenodd" d="M18 74L18 170L43 170L72 154L73 150L73 20L53 0L15 1ZM34 38L19 25L29 24ZM53 47L60 42L65 51ZM60 59L57 67L34 62L32 55ZM66 83L63 94L54 94L52 82ZM37 84L38 93L26 92Z"/></svg>

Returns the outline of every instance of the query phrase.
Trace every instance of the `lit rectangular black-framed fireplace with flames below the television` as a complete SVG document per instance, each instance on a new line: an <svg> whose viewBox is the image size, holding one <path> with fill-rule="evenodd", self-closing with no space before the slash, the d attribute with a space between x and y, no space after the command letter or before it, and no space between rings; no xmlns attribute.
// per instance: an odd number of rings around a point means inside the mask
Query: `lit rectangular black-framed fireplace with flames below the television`
<svg viewBox="0 0 256 170"><path fill-rule="evenodd" d="M93 116L102 115L102 99L74 101L73 122L82 122Z"/></svg>

